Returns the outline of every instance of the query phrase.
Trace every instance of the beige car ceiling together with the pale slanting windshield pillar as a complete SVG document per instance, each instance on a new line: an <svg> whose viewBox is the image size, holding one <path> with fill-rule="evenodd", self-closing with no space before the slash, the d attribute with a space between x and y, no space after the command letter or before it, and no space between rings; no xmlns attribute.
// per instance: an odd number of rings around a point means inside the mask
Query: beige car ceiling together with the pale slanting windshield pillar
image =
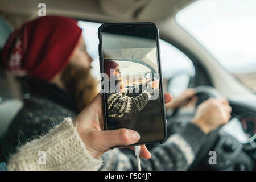
<svg viewBox="0 0 256 182"><path fill-rule="evenodd" d="M176 44L198 61L212 77L213 85L224 95L251 93L236 78L225 72L216 59L191 35L181 28L176 13L196 0L44 0L46 14L69 16L92 22L154 22L159 27L160 38ZM41 0L1 0L0 15L14 28L23 22L38 18ZM225 78L222 82L219 79ZM236 85L237 89L232 89Z"/></svg>

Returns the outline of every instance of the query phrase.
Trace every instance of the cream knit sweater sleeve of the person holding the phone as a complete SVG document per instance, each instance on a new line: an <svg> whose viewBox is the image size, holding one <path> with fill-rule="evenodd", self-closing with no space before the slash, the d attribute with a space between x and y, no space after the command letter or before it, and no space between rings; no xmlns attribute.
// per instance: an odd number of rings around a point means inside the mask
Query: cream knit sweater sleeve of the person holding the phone
<svg viewBox="0 0 256 182"><path fill-rule="evenodd" d="M40 162L40 151L46 158ZM44 157L43 156L43 157ZM9 170L97 170L101 158L90 156L71 118L52 129L47 135L19 148L7 165Z"/></svg>

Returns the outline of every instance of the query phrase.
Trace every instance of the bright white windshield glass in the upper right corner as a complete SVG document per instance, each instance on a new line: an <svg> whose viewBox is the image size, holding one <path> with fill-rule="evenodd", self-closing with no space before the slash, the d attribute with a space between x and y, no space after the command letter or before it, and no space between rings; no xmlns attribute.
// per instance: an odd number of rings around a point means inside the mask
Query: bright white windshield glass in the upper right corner
<svg viewBox="0 0 256 182"><path fill-rule="evenodd" d="M255 0L198 0L180 10L176 22L256 92Z"/></svg>

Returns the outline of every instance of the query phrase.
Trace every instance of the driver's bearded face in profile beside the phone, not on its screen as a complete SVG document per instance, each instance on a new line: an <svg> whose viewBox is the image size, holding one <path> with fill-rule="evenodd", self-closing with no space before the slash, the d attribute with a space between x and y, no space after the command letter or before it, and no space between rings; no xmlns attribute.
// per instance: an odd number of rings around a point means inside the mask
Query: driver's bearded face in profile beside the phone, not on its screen
<svg viewBox="0 0 256 182"><path fill-rule="evenodd" d="M71 59L61 73L64 90L77 101L77 109L82 110L97 94L96 80L90 75L92 57L86 52L84 39L80 36Z"/></svg>

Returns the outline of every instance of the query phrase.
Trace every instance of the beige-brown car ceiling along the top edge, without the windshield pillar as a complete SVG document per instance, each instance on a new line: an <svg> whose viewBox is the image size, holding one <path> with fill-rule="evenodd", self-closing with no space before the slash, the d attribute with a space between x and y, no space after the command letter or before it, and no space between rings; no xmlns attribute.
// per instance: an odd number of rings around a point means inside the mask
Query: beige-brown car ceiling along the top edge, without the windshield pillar
<svg viewBox="0 0 256 182"><path fill-rule="evenodd" d="M47 14L66 15L73 18L110 21L158 22L176 13L195 0L45 0ZM1 0L0 13L37 15L40 0Z"/></svg>

